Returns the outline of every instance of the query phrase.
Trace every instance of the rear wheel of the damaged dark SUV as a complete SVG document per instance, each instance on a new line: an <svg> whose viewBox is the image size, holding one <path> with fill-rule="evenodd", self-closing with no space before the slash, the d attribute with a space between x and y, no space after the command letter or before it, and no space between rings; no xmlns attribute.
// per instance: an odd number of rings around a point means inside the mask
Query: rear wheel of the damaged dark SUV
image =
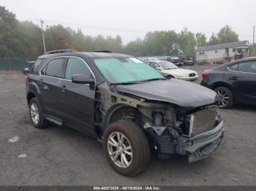
<svg viewBox="0 0 256 191"><path fill-rule="evenodd" d="M43 117L42 108L37 98L31 98L29 102L29 115L35 128L47 128L48 120Z"/></svg>

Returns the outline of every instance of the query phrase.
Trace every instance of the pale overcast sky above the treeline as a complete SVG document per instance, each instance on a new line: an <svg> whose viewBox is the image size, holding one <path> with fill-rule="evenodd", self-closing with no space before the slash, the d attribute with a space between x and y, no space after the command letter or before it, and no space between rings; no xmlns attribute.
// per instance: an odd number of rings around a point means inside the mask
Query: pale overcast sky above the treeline
<svg viewBox="0 0 256 191"><path fill-rule="evenodd" d="M0 5L15 13L18 20L45 25L62 24L81 28L84 34L122 37L124 44L147 31L187 27L207 37L230 25L239 39L252 42L256 25L255 0L0 0Z"/></svg>

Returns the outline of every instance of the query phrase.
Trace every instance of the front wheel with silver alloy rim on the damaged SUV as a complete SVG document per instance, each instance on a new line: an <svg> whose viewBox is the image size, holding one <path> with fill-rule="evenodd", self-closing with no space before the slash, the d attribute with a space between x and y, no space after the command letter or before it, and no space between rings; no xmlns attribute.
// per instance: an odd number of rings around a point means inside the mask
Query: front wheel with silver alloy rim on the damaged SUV
<svg viewBox="0 0 256 191"><path fill-rule="evenodd" d="M103 149L111 167L124 176L140 173L150 160L148 139L130 120L119 120L106 128Z"/></svg>

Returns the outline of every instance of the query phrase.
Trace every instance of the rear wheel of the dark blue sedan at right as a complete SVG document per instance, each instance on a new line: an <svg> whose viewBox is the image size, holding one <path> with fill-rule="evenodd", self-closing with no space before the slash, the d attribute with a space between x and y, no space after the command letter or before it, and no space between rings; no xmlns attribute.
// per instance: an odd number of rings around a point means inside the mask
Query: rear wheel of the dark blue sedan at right
<svg viewBox="0 0 256 191"><path fill-rule="evenodd" d="M233 106L233 93L227 87L217 87L214 91L219 95L219 107L227 109Z"/></svg>

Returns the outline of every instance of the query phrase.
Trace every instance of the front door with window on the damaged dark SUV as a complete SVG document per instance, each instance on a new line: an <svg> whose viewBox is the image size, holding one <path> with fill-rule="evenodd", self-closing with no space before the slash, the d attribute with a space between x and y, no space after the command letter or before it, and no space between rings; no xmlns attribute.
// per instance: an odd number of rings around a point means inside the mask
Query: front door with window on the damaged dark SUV
<svg viewBox="0 0 256 191"><path fill-rule="evenodd" d="M94 96L96 85L76 84L71 81L75 74L94 78L89 66L81 58L67 58L64 80L61 83L61 112L64 124L71 128L95 135ZM95 82L96 79L94 78Z"/></svg>

